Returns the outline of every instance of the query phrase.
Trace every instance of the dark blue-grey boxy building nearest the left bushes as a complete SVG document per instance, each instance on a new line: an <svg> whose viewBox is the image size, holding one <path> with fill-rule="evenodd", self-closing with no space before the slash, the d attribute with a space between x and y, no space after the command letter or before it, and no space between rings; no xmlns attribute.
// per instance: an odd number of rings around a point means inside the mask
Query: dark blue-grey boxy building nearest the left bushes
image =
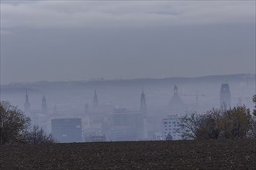
<svg viewBox="0 0 256 170"><path fill-rule="evenodd" d="M56 118L51 129L57 142L81 142L81 118Z"/></svg>

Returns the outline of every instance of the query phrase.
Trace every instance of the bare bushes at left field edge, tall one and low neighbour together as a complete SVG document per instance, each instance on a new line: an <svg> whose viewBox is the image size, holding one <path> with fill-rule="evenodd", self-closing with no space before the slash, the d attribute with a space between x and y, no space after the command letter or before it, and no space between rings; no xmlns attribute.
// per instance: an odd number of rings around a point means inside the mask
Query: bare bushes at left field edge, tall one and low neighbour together
<svg viewBox="0 0 256 170"><path fill-rule="evenodd" d="M9 102L0 102L0 145L52 143L54 138Z"/></svg>

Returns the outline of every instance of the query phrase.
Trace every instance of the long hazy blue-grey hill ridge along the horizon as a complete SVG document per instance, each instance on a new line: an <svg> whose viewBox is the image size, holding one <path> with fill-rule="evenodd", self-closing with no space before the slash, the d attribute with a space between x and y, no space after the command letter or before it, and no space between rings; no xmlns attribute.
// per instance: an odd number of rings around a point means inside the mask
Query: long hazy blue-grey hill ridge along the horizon
<svg viewBox="0 0 256 170"><path fill-rule="evenodd" d="M168 77L168 78L141 78L130 80L80 80L80 81L39 81L33 83L9 83L2 85L2 89L16 87L99 87L99 86L130 86L144 84L161 84L161 83L201 83L201 82L223 82L232 81L251 81L255 80L255 74L230 74L230 75L213 75L198 77Z"/></svg>

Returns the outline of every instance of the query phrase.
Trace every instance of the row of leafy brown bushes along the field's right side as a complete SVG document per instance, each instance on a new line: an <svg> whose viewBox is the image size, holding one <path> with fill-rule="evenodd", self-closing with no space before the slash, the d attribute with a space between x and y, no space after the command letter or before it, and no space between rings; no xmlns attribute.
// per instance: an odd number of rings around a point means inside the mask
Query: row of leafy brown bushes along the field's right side
<svg viewBox="0 0 256 170"><path fill-rule="evenodd" d="M246 106L236 106L185 115L179 119L177 131L184 139L255 139L256 95L253 102L252 114Z"/></svg>

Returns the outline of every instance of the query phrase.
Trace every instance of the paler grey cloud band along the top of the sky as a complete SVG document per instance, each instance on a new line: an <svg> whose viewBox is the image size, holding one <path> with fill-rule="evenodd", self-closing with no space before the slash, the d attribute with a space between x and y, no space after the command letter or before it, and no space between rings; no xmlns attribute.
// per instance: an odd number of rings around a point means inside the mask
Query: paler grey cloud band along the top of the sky
<svg viewBox="0 0 256 170"><path fill-rule="evenodd" d="M255 2L69 2L2 4L2 27L98 27L254 22Z"/></svg>

